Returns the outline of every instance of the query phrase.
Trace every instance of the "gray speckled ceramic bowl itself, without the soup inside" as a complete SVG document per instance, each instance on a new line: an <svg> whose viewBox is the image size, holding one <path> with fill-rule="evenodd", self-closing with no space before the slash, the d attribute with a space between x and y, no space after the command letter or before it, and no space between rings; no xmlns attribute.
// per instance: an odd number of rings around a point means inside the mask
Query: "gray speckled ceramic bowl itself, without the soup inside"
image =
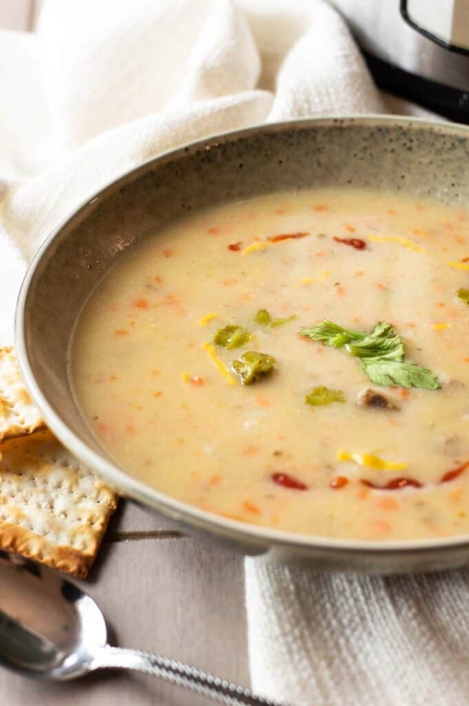
<svg viewBox="0 0 469 706"><path fill-rule="evenodd" d="M180 216L286 189L353 185L469 203L469 128L366 116L267 125L157 157L114 181L37 252L18 299L16 345L30 393L64 445L123 495L246 554L317 570L397 573L469 562L469 536L359 542L279 532L204 512L136 481L106 455L71 394L68 348L80 307L133 244Z"/></svg>

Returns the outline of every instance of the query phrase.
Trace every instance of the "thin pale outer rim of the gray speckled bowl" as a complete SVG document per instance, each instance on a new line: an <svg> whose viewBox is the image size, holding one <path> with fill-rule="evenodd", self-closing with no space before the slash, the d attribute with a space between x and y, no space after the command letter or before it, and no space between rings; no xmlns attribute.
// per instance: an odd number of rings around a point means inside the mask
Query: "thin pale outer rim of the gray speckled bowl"
<svg viewBox="0 0 469 706"><path fill-rule="evenodd" d="M104 199L115 190L119 189L124 184L135 181L141 174L150 171L152 165L155 168L159 164L178 160L179 157L187 155L188 152L195 152L201 148L209 150L217 148L221 143L231 142L240 138L248 138L258 133L277 133L295 128L314 129L320 126L360 126L360 125L379 125L383 126L402 126L406 128L422 128L425 131L437 131L439 133L449 133L455 136L461 135L469 140L469 126L451 123L443 120L430 120L413 116L389 115L389 114L350 114L337 115L328 114L319 117L305 117L303 119L293 119L286 121L278 121L275 123L260 124L248 128L240 128L238 130L226 131L222 133L214 133L207 135L195 141L183 143L177 148L166 150L156 157L151 157L145 160L136 167L127 169L125 172L118 174L117 177L108 181L101 189L95 191L91 196L82 201L68 215L63 218L54 229L44 238L35 255L32 257L28 270L25 273L23 282L20 287L18 299L16 302L15 313L15 342L16 354L20 371L23 374L26 386L30 392L32 400L35 402L39 411L42 413L47 426L63 443L68 450L73 453L83 464L97 472L104 480L108 481L111 486L114 486L124 498L130 498L137 501L146 507L158 510L163 515L172 517L175 520L183 522L185 525L190 525L197 530L209 532L212 535L226 537L232 541L241 544L251 544L258 546L277 546L290 550L317 550L328 551L336 554L361 554L372 558L373 555L388 555L392 554L420 554L430 550L441 549L457 549L469 545L469 533L456 535L454 537L441 537L436 539L396 539L396 540L376 540L376 539L348 539L338 537L327 537L316 534L302 534L296 532L287 532L284 530L276 530L270 527L261 525L250 525L248 522L240 520L231 520L229 517L217 515L216 513L208 512L197 508L195 505L183 503L177 498L173 498L162 491L152 488L152 486L134 479L123 468L117 464L107 460L102 455L99 455L95 450L92 450L85 442L81 441L78 436L68 427L63 421L60 414L55 412L49 404L47 396L43 393L39 384L35 380L30 359L28 356L28 347L26 344L25 331L25 305L30 292L37 269L42 263L42 258L47 254L49 248L58 239L64 228L68 227L73 221L95 203L104 201Z"/></svg>

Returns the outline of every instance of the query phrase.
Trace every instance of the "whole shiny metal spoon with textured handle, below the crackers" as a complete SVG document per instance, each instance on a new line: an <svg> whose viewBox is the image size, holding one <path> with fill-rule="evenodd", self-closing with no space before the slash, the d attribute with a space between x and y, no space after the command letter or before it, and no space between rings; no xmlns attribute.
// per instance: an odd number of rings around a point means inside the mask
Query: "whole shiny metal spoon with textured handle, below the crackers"
<svg viewBox="0 0 469 706"><path fill-rule="evenodd" d="M0 551L0 664L59 681L106 667L134 669L229 706L282 706L188 664L111 647L104 616L90 596L54 570L5 551Z"/></svg>

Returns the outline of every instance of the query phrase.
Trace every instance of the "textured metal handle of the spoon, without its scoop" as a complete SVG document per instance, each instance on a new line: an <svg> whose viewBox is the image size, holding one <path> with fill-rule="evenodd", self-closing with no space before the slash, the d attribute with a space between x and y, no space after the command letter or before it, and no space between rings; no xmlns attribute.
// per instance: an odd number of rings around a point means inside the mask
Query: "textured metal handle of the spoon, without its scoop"
<svg viewBox="0 0 469 706"><path fill-rule="evenodd" d="M90 668L106 667L143 671L226 706L288 706L285 703L256 696L244 686L238 686L219 676L207 674L205 671L183 662L176 662L175 659L161 657L159 654L106 645L93 652Z"/></svg>

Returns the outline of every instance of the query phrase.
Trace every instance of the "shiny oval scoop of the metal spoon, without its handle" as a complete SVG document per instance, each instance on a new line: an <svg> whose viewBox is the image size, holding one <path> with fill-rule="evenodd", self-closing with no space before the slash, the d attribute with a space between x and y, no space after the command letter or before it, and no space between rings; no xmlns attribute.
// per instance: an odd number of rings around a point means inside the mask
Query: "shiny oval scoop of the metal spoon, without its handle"
<svg viewBox="0 0 469 706"><path fill-rule="evenodd" d="M97 604L54 571L0 551L0 662L27 674L69 679L90 670L107 641Z"/></svg>

